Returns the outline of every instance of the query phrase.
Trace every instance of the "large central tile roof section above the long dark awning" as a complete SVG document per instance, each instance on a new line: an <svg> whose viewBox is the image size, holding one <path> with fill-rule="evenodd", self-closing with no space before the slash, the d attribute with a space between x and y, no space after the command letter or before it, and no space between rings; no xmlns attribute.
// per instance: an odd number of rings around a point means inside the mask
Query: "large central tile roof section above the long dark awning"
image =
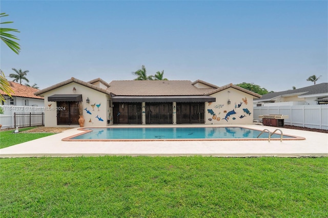
<svg viewBox="0 0 328 218"><path fill-rule="evenodd" d="M116 96L190 96L215 90L198 89L189 80L113 80L109 85Z"/></svg>

